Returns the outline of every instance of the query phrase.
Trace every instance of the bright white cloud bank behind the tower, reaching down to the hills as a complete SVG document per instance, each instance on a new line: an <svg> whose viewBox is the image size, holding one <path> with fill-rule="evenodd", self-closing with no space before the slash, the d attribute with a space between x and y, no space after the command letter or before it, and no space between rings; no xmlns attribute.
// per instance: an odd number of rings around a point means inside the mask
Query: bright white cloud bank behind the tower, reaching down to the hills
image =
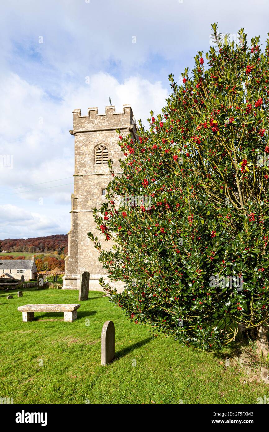
<svg viewBox="0 0 269 432"><path fill-rule="evenodd" d="M160 111L168 95L161 82L150 83L141 76L131 76L120 83L115 77L102 72L90 76L89 84L66 86L60 101L51 100L41 88L14 73L3 77L0 92L0 109L3 112L0 120L0 156L9 155L13 160L12 167L10 164L0 166L0 203L37 209L35 223L29 226L27 221L32 220L29 219L29 213L25 223L21 211L18 217L18 210L9 213L11 222L15 221L15 224L11 223L13 237L28 236L29 230L32 236L34 230L42 235L43 219L37 218L40 200L44 213L44 232L49 234L58 230L62 233L70 228L74 138L69 130L73 128L74 108L82 108L82 114L86 114L90 106L98 106L102 113L108 105L108 96L111 96L117 112L122 111L123 104L130 103L136 119L146 121L150 109ZM67 228L66 222L59 225L56 219L48 217L51 209L55 214L59 213L59 209L61 214L65 213ZM5 220L0 222L5 227L0 235L2 238L10 237L8 219Z"/></svg>

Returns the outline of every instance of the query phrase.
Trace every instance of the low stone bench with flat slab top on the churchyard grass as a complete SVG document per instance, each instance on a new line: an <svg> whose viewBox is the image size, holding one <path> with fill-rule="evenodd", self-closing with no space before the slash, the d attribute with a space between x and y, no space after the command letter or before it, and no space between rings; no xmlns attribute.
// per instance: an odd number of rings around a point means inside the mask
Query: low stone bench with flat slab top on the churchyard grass
<svg viewBox="0 0 269 432"><path fill-rule="evenodd" d="M25 305L19 306L18 311L22 312L22 321L33 321L35 312L63 312L64 321L72 323L77 318L79 304L74 305Z"/></svg>

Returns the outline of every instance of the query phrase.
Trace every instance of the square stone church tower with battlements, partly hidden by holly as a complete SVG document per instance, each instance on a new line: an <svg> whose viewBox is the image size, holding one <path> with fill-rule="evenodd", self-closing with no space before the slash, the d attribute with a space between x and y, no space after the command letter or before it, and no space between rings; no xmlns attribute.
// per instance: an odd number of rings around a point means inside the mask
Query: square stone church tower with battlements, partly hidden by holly
<svg viewBox="0 0 269 432"><path fill-rule="evenodd" d="M63 289L79 289L80 274L90 273L89 289L101 290L100 277L106 278L98 251L92 245L88 232L92 231L101 241L103 248L111 248L111 241L104 241L95 228L93 210L105 200L105 188L111 181L108 159L114 161L115 175L121 173L119 159L123 157L118 145L119 136L131 133L136 140L136 122L130 105L123 105L121 113L114 106L105 108L105 114L98 114L98 108L89 108L88 115L82 116L80 109L73 111L75 137L74 193L71 196L71 229L68 233L68 255L65 258ZM118 284L122 290L123 285Z"/></svg>

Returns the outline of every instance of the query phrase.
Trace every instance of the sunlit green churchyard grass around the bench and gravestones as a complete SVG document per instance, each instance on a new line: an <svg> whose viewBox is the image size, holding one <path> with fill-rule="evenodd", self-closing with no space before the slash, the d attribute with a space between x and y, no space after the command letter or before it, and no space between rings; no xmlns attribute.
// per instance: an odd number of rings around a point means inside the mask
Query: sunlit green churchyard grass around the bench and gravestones
<svg viewBox="0 0 269 432"><path fill-rule="evenodd" d="M250 381L222 355L179 346L149 328L131 324L120 308L90 292L78 319L36 313L23 323L17 307L28 303L77 303L78 291L23 289L0 292L0 397L14 403L257 403L266 384ZM101 329L112 320L116 359L101 366ZM89 325L87 325L89 324ZM136 364L136 365L135 365Z"/></svg>

